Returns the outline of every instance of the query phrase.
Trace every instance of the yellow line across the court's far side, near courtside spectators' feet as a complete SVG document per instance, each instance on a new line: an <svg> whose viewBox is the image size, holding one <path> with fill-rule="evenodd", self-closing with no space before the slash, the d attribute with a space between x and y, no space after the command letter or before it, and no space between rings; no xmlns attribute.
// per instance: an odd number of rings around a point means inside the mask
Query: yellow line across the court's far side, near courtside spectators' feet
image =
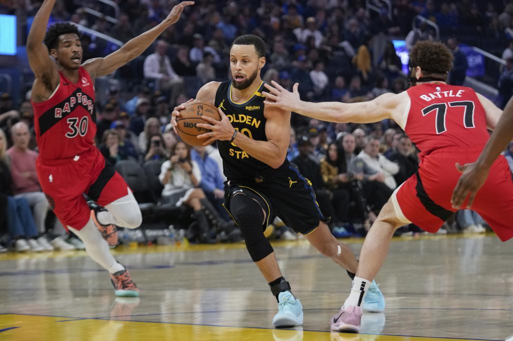
<svg viewBox="0 0 513 341"><path fill-rule="evenodd" d="M406 242L406 241L419 241L419 240L437 240L445 238L484 238L484 237L497 238L495 233L489 232L486 235L416 235L407 237L394 237L392 242ZM344 238L339 239L344 244L362 244L364 238ZM306 239L299 239L295 241L273 241L271 245L276 247L290 247L294 245L309 244ZM139 254L139 253L168 253L168 252L191 252L191 251L212 251L212 250L234 250L245 249L246 245L243 242L233 244L189 244L187 241L180 245L136 245L136 246L118 246L111 249L112 254ZM58 258L73 258L73 257L86 257L85 251L54 251L54 252L8 252L0 254L0 262L12 261L21 259L58 259Z"/></svg>

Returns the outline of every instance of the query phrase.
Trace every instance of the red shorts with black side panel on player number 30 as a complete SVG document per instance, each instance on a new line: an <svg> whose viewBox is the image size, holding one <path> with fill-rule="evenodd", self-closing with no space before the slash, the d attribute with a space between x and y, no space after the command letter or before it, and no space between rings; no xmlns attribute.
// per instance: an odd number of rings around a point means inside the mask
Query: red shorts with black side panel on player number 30
<svg viewBox="0 0 513 341"><path fill-rule="evenodd" d="M105 206L128 195L127 183L94 148L70 159L36 162L37 177L57 218L82 229L90 219L84 194Z"/></svg>

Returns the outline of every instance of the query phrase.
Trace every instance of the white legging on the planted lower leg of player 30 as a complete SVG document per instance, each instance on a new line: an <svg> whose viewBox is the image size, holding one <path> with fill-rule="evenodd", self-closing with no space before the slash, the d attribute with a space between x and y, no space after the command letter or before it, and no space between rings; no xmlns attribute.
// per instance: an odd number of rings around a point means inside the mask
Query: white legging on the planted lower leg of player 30
<svg viewBox="0 0 513 341"><path fill-rule="evenodd" d="M125 267L120 263L117 263L113 255L110 253L109 244L103 239L102 234L92 219L89 219L86 226L81 230L77 230L71 226L68 228L78 236L86 246L86 252L93 261L100 264L104 269L110 273L114 273L120 270L124 270Z"/></svg>

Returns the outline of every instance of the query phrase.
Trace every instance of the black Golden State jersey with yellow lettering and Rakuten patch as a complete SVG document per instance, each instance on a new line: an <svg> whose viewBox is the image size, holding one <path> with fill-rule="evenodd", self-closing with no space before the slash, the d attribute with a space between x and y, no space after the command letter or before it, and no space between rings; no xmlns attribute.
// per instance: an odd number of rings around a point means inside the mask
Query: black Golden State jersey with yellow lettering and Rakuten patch
<svg viewBox="0 0 513 341"><path fill-rule="evenodd" d="M247 137L257 141L267 141L265 135L264 100L262 95L264 82L260 83L254 95L243 103L235 103L231 100L231 81L224 81L219 85L215 93L215 106L228 116L231 125ZM218 141L218 148L223 158L223 171L228 180L243 180L263 182L288 169L289 162L285 158L279 168L272 168L244 152L240 147L229 141Z"/></svg>

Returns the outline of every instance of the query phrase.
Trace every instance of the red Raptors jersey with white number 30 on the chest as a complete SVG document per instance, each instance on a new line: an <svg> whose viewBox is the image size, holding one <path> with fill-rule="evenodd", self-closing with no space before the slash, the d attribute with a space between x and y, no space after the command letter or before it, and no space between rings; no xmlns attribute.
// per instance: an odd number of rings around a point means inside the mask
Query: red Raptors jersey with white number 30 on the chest
<svg viewBox="0 0 513 341"><path fill-rule="evenodd" d="M96 113L94 87L87 71L78 69L78 82L61 72L50 98L34 103L34 127L42 159L66 159L94 148Z"/></svg>

